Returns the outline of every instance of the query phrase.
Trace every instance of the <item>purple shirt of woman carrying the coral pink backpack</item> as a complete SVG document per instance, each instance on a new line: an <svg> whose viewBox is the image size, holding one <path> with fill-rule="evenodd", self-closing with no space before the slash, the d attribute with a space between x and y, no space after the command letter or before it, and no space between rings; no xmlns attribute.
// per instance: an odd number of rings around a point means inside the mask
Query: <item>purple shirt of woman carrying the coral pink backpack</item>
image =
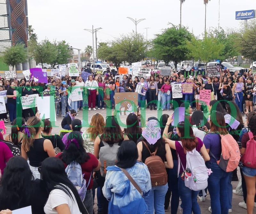
<svg viewBox="0 0 256 214"><path fill-rule="evenodd" d="M219 134L215 133L208 133L204 135L204 145L206 149L210 149L212 154L217 158L217 160L220 160L220 154L221 154L221 138ZM210 154L210 162L215 163L216 160L212 155Z"/></svg>

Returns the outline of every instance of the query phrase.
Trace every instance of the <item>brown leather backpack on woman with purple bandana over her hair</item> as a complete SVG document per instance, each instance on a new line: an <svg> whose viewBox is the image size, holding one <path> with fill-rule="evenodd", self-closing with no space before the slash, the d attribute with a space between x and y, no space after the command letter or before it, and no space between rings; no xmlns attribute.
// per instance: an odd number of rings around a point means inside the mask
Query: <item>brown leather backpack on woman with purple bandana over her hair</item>
<svg viewBox="0 0 256 214"><path fill-rule="evenodd" d="M142 142L150 153L150 156L145 160L145 164L148 166L148 171L150 173L151 186L156 187L165 185L167 183L167 172L163 160L156 155L158 147L151 153L147 143L145 141Z"/></svg>

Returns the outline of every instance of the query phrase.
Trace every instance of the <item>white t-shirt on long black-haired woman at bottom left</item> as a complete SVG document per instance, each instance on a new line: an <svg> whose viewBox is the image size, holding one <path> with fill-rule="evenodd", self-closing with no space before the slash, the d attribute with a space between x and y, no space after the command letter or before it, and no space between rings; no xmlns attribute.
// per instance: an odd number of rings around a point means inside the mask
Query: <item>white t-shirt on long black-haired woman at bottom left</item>
<svg viewBox="0 0 256 214"><path fill-rule="evenodd" d="M47 199L46 204L44 205L44 212L45 214L58 214L55 207L61 205L61 204L68 204L68 207L70 209L70 213L77 213L82 214L79 210L78 204L76 202L75 195L71 192L71 190L68 188L69 192L71 193L72 198L70 198L69 195L67 195L64 191L60 189L53 189L49 197Z"/></svg>

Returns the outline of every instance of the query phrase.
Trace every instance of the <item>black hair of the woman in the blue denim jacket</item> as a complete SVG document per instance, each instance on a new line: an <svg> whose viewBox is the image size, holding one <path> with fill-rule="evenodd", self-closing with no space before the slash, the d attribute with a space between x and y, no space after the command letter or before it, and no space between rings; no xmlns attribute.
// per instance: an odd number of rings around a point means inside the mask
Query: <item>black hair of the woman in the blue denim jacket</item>
<svg viewBox="0 0 256 214"><path fill-rule="evenodd" d="M130 168L136 164L138 159L138 149L134 141L123 141L117 152L116 165L120 168Z"/></svg>

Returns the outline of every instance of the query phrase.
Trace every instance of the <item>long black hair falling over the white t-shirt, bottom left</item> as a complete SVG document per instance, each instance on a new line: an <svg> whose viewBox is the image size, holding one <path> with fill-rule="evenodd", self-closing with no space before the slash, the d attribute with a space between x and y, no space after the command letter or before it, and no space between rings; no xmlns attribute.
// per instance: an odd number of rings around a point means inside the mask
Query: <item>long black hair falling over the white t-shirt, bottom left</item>
<svg viewBox="0 0 256 214"><path fill-rule="evenodd" d="M53 189L60 189L72 198L73 201L76 200L82 214L87 213L76 187L68 179L63 162L59 158L47 157L44 159L41 167L41 176L46 185L48 194L50 194ZM72 197L70 190L74 194L75 199Z"/></svg>

